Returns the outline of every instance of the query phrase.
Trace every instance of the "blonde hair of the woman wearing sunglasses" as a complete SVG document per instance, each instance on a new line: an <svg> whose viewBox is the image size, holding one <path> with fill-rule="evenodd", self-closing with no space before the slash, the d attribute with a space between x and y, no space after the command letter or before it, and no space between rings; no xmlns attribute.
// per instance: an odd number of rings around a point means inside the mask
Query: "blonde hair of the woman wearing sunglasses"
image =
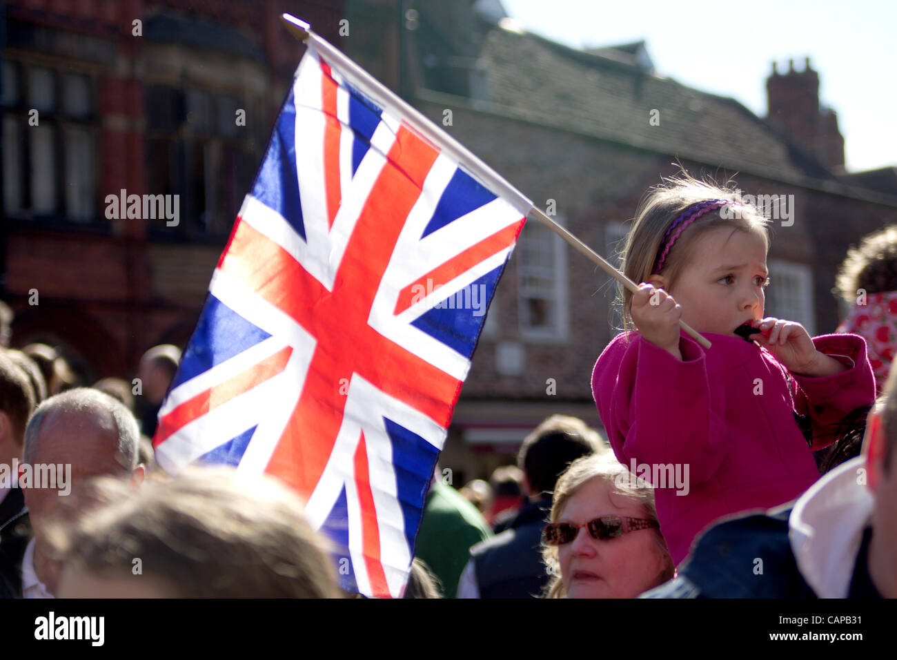
<svg viewBox="0 0 897 660"><path fill-rule="evenodd" d="M558 478L554 486L552 512L549 519L552 523L561 520L563 510L570 501L570 497L576 495L588 481L600 479L607 484L611 493L615 496L625 497L634 501L645 510L645 517L657 522L658 511L654 506L654 488L642 479L632 474L625 465L617 462L613 457L605 454L593 453L583 456L570 463L570 467ZM658 576L658 585L673 577L673 559L666 549L666 541L659 529L650 531L654 534L654 541L658 552L664 558L664 572ZM551 582L545 589L545 598L562 598L566 595L561 576L561 561L558 556L558 547L542 543L542 559L547 567L549 575L553 575Z"/></svg>

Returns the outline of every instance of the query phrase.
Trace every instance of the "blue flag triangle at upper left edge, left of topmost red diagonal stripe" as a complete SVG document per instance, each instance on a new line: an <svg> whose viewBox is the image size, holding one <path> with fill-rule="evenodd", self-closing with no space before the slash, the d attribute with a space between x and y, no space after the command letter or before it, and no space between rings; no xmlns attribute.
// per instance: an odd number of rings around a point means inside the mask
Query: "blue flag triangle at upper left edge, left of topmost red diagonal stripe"
<svg viewBox="0 0 897 660"><path fill-rule="evenodd" d="M252 196L266 207L286 218L304 239L302 205L299 198L299 176L296 172L296 105L292 91L283 103L265 160L252 186Z"/></svg>

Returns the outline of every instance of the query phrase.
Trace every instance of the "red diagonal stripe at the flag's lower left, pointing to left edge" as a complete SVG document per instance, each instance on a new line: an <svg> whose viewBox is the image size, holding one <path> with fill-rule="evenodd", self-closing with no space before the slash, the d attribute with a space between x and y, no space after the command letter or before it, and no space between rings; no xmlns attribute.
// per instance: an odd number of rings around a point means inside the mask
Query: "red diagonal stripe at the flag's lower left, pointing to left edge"
<svg viewBox="0 0 897 660"><path fill-rule="evenodd" d="M159 420L159 428L156 430L153 444L158 445L164 442L182 427L205 415L209 410L222 406L243 392L248 392L259 383L264 383L269 378L280 374L291 355L292 347L282 348L273 356L266 357L257 365L250 366L246 371L233 376L224 383L184 401Z"/></svg>

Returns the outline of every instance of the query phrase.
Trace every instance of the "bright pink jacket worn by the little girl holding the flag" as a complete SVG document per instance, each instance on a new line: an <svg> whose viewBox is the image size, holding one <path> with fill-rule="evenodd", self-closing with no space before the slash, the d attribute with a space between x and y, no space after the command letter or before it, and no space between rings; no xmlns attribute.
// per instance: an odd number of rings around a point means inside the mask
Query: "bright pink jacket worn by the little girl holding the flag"
<svg viewBox="0 0 897 660"><path fill-rule="evenodd" d="M816 428L875 400L866 342L857 335L813 339L817 350L849 356L855 365L823 378L794 375L794 404L788 370L769 351L738 337L706 337L709 350L682 334L679 361L639 333L624 332L598 357L592 374L598 414L617 459L630 469L634 461L637 476L667 480L655 500L675 564L720 516L778 506L819 478L794 406ZM662 467L670 463L688 475L685 488Z"/></svg>

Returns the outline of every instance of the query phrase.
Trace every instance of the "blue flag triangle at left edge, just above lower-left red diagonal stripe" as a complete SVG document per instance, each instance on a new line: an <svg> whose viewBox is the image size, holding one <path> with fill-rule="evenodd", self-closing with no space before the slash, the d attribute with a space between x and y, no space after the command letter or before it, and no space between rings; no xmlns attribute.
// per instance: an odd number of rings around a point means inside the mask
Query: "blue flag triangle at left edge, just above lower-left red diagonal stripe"
<svg viewBox="0 0 897 660"><path fill-rule="evenodd" d="M210 294L170 389L187 383L270 336Z"/></svg>

